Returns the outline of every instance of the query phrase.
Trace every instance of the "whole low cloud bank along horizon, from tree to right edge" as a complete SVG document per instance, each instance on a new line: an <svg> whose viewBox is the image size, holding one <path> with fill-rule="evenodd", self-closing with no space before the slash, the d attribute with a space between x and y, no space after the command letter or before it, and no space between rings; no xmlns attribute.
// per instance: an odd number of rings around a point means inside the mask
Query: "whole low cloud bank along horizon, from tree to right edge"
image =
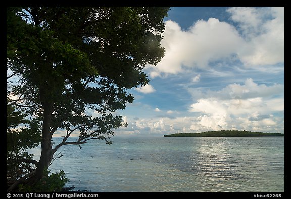
<svg viewBox="0 0 291 199"><path fill-rule="evenodd" d="M154 110L153 113L162 112L159 108ZM180 116L176 110L165 113L148 118L124 117L128 127L119 128L117 135L146 136L213 130L283 133L284 85L258 84L247 78L243 84L233 83L221 90L206 92L189 105L187 116ZM174 113L175 117L171 116Z"/></svg>

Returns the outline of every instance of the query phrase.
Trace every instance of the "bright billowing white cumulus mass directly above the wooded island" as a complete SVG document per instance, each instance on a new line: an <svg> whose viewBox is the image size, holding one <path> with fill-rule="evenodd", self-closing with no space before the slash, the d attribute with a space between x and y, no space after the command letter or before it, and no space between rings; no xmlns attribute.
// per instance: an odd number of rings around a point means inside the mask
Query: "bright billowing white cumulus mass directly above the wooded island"
<svg viewBox="0 0 291 199"><path fill-rule="evenodd" d="M198 125L214 130L231 129L233 124L236 124L235 128L274 126L278 118L271 115L284 110L283 94L283 85L259 85L246 79L244 85L230 84L220 91L208 93L211 96L198 99L190 105L189 111L200 114Z"/></svg>

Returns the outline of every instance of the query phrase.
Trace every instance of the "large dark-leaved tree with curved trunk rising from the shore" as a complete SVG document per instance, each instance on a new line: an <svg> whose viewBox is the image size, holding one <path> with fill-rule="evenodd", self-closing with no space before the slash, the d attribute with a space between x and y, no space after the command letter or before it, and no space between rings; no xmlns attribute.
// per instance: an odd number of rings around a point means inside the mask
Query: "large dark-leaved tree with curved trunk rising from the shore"
<svg viewBox="0 0 291 199"><path fill-rule="evenodd" d="M8 7L7 70L11 93L41 131L36 169L19 183L43 178L54 153L67 144L104 139L123 124L114 115L133 102L129 90L149 83L142 69L164 56L160 46L167 7ZM11 80L10 80L11 81ZM12 104L12 99L8 105ZM95 111L98 116L89 112ZM66 130L52 148L52 136ZM73 132L79 137L67 141ZM9 158L9 157L7 157Z"/></svg>

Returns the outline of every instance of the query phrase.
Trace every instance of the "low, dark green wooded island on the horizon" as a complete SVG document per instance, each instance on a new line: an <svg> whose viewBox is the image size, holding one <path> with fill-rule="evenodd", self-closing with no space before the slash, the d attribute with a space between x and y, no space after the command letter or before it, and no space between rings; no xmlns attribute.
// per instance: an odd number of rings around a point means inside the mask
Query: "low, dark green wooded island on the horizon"
<svg viewBox="0 0 291 199"><path fill-rule="evenodd" d="M238 131L238 130L221 130L221 131L206 131L202 133L174 133L170 135L164 135L164 137L259 137L259 136L285 136L285 134Z"/></svg>

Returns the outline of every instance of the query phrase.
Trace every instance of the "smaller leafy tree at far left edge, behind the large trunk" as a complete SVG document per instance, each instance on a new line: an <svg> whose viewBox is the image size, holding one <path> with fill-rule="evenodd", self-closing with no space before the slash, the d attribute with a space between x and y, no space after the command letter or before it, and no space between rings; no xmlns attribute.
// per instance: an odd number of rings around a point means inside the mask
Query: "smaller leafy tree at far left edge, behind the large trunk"
<svg viewBox="0 0 291 199"><path fill-rule="evenodd" d="M37 161L33 160L33 155L29 155L26 150L39 145L40 131L38 122L25 119L25 111L16 110L13 103L17 100L7 101L7 133L6 133L6 154L7 154L7 184L11 185L22 175L33 170ZM23 110L23 109L22 109ZM20 126L16 129L17 126Z"/></svg>

